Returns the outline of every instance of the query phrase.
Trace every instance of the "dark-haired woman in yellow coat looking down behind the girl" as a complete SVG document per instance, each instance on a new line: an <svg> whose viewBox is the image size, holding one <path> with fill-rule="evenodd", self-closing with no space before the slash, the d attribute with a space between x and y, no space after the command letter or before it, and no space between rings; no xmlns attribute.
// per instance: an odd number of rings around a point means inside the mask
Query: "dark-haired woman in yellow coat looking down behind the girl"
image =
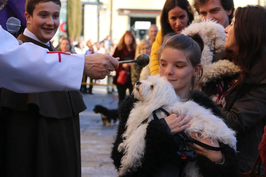
<svg viewBox="0 0 266 177"><path fill-rule="evenodd" d="M151 50L150 73L158 74L157 51L162 45L162 38L169 32L179 34L194 20L193 12L187 0L166 0L161 12L161 30L158 32Z"/></svg>

